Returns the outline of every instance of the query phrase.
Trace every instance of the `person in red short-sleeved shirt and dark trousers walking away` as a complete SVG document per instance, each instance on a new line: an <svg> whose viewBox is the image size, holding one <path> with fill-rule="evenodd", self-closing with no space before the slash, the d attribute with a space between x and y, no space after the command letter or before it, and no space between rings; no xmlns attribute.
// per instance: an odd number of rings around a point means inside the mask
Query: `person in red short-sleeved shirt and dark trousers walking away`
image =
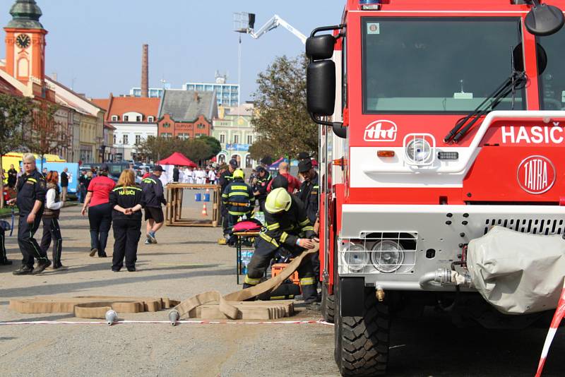
<svg viewBox="0 0 565 377"><path fill-rule="evenodd" d="M81 213L86 215L88 207L88 222L90 222L90 256L98 253L98 257L106 258L106 243L108 232L112 226L112 206L109 204L110 192L116 184L108 178L109 167L101 164L98 176L90 181L88 193Z"/></svg>

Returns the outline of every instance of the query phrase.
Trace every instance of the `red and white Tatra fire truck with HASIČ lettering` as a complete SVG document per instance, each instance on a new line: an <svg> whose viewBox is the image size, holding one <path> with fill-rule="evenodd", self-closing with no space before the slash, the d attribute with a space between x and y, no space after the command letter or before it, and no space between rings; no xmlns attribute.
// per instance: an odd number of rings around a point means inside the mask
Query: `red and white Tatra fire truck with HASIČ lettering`
<svg viewBox="0 0 565 377"><path fill-rule="evenodd" d="M385 373L391 318L414 306L489 328L547 316L494 310L465 258L494 225L565 231L560 8L348 0L339 24L311 33L322 308L344 376Z"/></svg>

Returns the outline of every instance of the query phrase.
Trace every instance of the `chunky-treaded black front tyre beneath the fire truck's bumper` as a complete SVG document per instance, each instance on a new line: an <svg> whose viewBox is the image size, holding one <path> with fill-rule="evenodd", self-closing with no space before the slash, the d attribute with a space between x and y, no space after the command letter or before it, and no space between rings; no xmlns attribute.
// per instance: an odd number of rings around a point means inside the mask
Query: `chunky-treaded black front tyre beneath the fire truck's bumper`
<svg viewBox="0 0 565 377"><path fill-rule="evenodd" d="M388 305L379 302L374 288L365 288L361 317L340 315L339 284L335 286L335 362L342 376L383 376L388 363Z"/></svg>

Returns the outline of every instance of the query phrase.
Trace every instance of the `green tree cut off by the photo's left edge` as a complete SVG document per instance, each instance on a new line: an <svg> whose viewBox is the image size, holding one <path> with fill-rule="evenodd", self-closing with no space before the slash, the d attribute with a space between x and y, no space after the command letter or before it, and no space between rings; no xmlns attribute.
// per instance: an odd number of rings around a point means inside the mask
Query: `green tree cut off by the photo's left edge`
<svg viewBox="0 0 565 377"><path fill-rule="evenodd" d="M2 156L23 150L23 130L32 123L33 104L27 97L0 94L0 169ZM0 179L0 193L4 181ZM0 208L4 208L4 195L0 195Z"/></svg>

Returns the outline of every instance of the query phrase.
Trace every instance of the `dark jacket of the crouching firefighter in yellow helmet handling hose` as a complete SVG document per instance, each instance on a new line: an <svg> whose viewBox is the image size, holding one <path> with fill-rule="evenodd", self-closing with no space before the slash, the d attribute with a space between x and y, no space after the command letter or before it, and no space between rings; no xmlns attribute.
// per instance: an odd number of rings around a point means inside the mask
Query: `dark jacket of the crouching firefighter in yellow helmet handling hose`
<svg viewBox="0 0 565 377"><path fill-rule="evenodd" d="M316 236L314 227L308 219L304 203L294 195L287 211L270 213L265 211L265 228L259 237L278 249L280 246L297 246L299 238L311 239Z"/></svg>

